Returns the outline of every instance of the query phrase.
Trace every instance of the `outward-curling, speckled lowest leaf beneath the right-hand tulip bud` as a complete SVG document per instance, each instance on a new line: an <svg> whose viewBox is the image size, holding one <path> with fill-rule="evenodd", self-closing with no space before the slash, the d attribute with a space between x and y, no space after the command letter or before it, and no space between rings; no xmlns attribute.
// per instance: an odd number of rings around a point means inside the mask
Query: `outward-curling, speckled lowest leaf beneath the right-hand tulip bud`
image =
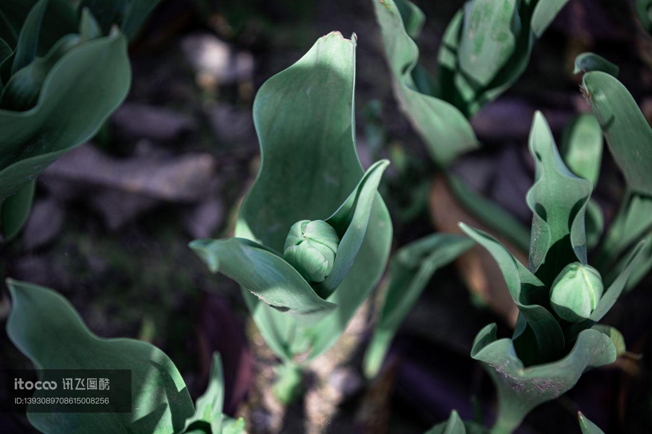
<svg viewBox="0 0 652 434"><path fill-rule="evenodd" d="M498 393L498 417L492 432L511 433L538 405L570 390L582 373L614 362L612 340L597 330L582 331L570 353L552 363L525 367L509 339L496 340L496 325L475 338L471 357L482 362Z"/></svg>

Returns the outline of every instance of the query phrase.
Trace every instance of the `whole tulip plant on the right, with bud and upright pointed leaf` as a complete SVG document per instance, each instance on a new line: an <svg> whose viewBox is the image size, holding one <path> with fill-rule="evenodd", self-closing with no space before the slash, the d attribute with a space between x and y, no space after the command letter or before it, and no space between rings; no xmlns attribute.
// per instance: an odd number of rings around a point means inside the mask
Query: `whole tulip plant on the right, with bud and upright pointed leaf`
<svg viewBox="0 0 652 434"><path fill-rule="evenodd" d="M584 371L610 364L625 351L621 334L597 323L622 293L645 245L638 242L623 270L605 285L587 263L591 182L564 164L541 113L535 115L529 149L536 174L527 193L533 212L527 267L491 235L460 224L494 257L519 310L511 338L497 339L496 325L488 325L471 349L498 391L492 433L511 433L534 407L571 389Z"/></svg>

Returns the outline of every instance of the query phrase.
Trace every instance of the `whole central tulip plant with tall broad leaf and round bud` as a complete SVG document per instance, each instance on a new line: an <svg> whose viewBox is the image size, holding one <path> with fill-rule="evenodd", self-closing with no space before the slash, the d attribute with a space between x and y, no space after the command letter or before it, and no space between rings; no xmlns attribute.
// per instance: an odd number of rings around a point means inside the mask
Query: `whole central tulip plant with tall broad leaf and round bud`
<svg viewBox="0 0 652 434"><path fill-rule="evenodd" d="M329 349L378 283L392 224L376 192L388 162L366 173L355 151L355 35L323 36L258 91L256 182L235 237L190 243L213 272L238 282L269 347L283 361L282 401Z"/></svg>

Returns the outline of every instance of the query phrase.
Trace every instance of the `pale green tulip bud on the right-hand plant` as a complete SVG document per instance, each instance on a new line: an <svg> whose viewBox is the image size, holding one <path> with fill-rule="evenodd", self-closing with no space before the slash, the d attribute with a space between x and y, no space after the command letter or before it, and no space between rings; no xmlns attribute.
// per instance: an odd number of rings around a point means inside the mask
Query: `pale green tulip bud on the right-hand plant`
<svg viewBox="0 0 652 434"><path fill-rule="evenodd" d="M595 268L578 262L567 265L552 282L550 305L561 319L581 323L595 310L604 286Z"/></svg>

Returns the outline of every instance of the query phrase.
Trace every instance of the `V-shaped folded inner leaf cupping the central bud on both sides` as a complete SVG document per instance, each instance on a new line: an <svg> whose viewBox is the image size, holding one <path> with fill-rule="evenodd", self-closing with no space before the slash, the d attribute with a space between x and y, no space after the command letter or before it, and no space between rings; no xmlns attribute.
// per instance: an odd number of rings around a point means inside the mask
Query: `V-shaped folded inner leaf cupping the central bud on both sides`
<svg viewBox="0 0 652 434"><path fill-rule="evenodd" d="M325 219L334 227L340 244L330 274L314 287L274 250L248 239L195 240L190 248L212 272L222 272L276 310L295 315L303 323L318 321L335 308L325 298L342 283L355 261L388 165L387 160L372 165L346 201Z"/></svg>

